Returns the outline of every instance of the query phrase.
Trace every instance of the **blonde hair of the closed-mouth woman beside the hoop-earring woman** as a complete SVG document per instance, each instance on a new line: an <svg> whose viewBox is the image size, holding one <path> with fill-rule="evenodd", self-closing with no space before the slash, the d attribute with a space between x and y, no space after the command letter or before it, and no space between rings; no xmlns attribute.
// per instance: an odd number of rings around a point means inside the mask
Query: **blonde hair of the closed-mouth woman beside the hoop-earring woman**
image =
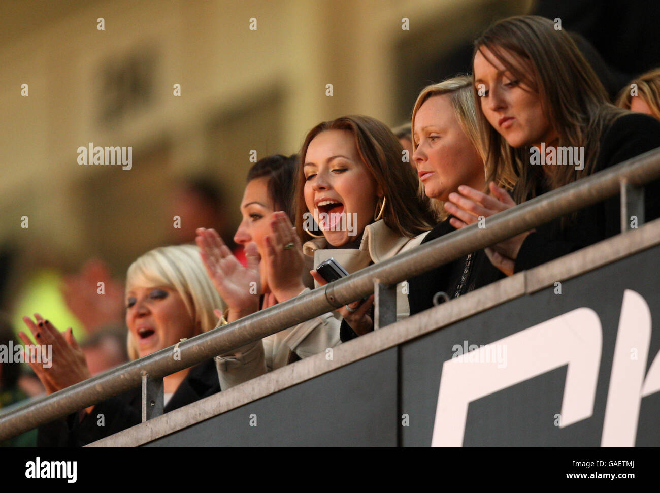
<svg viewBox="0 0 660 493"><path fill-rule="evenodd" d="M417 96L417 100L413 107L413 117L411 121L411 132L413 134L413 149L417 149L417 143L414 139L414 119L417 115L417 112L422 107L422 104L426 102L429 98L433 96L443 96L447 94L449 96L449 101L451 102L451 107L454 110L456 119L458 120L463 133L467 135L467 138L470 139L470 142L477 150L481 160L486 162L486 146L482 139L480 132L480 123L479 117L477 116L477 108L475 107L475 99L472 94L473 80L472 77L468 75L457 75L456 77L451 77L438 84L431 84L422 89L422 92ZM460 163L456 163L456 166L460 166ZM484 165L484 177L488 176L488 170ZM513 171L501 173L496 180L496 183L500 186L511 189L515 184L515 175ZM424 193L424 185L420 182L420 191ZM433 199L431 201L433 205L434 212L440 220L444 220L449 215L442 207L442 201Z"/></svg>

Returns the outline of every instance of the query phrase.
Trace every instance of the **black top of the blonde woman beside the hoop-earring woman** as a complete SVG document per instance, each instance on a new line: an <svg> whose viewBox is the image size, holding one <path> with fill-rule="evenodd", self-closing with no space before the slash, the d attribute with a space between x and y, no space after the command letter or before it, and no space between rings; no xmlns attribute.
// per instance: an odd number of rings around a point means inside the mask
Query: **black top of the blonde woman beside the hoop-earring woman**
<svg viewBox="0 0 660 493"><path fill-rule="evenodd" d="M422 244L452 231L455 231L455 228L449 224L449 218L447 218L430 230L422 240ZM455 298L459 294L479 289L505 277L499 269L493 267L483 250L472 253L466 268L467 257L465 255L408 281L408 304L411 315L432 308L434 306L433 298L437 292L444 292L449 298ZM464 276L465 279L463 279ZM461 283L461 281L463 282ZM463 285L461 286L461 284ZM438 297L436 301L442 302L443 300L444 298Z"/></svg>

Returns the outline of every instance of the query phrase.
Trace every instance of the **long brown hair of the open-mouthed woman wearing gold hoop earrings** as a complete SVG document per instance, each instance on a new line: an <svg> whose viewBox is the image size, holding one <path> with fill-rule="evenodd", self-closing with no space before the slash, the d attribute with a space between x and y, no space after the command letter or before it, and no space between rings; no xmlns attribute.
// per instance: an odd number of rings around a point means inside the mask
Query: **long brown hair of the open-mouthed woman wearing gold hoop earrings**
<svg viewBox="0 0 660 493"><path fill-rule="evenodd" d="M295 192L296 229L300 238L312 238L302 228L304 213L308 212L304 194L305 156L314 137L327 130L347 130L353 135L360 159L383 190L383 220L388 228L400 236L413 238L434 226L428 197L418 195L418 177L410 163L403 162L403 147L397 137L375 118L348 115L316 125L300 148Z"/></svg>

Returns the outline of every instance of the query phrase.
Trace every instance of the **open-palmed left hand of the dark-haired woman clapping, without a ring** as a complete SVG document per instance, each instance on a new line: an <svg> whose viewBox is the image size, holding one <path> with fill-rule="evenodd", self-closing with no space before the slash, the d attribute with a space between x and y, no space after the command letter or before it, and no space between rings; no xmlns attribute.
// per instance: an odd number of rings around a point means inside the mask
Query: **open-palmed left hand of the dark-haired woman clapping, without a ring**
<svg viewBox="0 0 660 493"><path fill-rule="evenodd" d="M259 310L259 252L257 245L246 245L247 265L244 267L222 242L215 230L197 229L195 243L220 297L229 306L227 321L232 322ZM256 286L256 287L255 287ZM215 311L218 318L219 310Z"/></svg>

